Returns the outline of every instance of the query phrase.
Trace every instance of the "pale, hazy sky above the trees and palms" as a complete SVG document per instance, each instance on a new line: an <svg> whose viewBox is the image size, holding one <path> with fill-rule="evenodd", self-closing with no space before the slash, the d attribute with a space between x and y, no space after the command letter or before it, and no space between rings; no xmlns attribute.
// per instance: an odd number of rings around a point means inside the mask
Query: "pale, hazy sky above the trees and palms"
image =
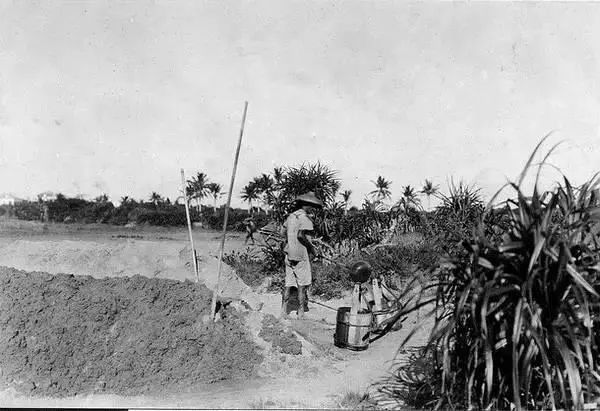
<svg viewBox="0 0 600 411"><path fill-rule="evenodd" d="M430 179L489 197L541 155L600 170L600 3L0 0L0 192L233 204L274 166L321 161L360 205ZM544 181L558 174L546 168Z"/></svg>

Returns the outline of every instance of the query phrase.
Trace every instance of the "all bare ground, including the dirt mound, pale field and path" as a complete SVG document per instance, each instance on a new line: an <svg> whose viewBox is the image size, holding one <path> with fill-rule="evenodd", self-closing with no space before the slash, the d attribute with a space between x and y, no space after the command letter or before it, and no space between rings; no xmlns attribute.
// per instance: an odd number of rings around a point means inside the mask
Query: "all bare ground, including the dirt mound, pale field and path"
<svg viewBox="0 0 600 411"><path fill-rule="evenodd" d="M388 375L414 325L414 344L427 336L410 317L366 351L334 347L349 293L282 321L281 295L253 292L227 266L220 296L233 302L208 332L220 236L195 230L194 241L199 283L185 228L0 221L0 266L13 268L0 269L0 403L339 408ZM226 252L244 248L228 236Z"/></svg>

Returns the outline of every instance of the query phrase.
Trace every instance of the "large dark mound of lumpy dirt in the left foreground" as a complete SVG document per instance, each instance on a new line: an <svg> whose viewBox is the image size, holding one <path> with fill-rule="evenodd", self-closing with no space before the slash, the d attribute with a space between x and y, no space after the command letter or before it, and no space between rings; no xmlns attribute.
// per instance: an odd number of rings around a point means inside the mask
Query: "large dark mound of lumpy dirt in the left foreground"
<svg viewBox="0 0 600 411"><path fill-rule="evenodd" d="M241 314L190 281L0 268L0 385L29 395L135 395L244 378L262 356Z"/></svg>

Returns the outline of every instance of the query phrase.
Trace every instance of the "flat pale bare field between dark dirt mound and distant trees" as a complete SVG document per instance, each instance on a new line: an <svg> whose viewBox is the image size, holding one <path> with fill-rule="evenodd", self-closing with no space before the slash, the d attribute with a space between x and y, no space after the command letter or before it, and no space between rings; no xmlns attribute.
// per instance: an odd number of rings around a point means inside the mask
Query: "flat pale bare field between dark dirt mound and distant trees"
<svg viewBox="0 0 600 411"><path fill-rule="evenodd" d="M202 268L218 255L221 233L196 228L193 236ZM225 252L243 249L243 239L240 233L228 233ZM96 277L194 277L185 227L44 224L2 219L0 266Z"/></svg>

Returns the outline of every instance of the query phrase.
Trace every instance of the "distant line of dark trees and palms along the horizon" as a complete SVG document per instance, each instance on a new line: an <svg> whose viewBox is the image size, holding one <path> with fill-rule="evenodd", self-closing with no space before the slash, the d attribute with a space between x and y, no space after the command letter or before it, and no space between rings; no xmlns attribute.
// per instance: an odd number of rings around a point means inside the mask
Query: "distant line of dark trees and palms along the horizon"
<svg viewBox="0 0 600 411"><path fill-rule="evenodd" d="M248 209L231 209L229 228L243 229L243 220L248 216L259 219L259 226L266 225L271 220L281 223L291 211L295 198L313 191L325 203L325 210L317 216L320 234L325 238L343 237L341 233L348 232L349 227L354 224L355 228L358 228L351 231L355 232L356 236L364 236L359 234L359 231L368 232L372 227L376 227L376 231L380 232L377 227L389 228L392 219L388 218L386 213L390 216L412 215L413 220L418 220L417 210L422 210L419 194L426 195L429 203L429 198L438 192L438 186L425 180L422 190L417 191L407 185L403 187L400 200L391 203L392 182L383 176L378 176L373 184L374 190L365 196L361 207L350 207L352 190L342 190L337 172L327 165L317 162L274 167L271 172L261 173L252 178L242 188L239 196L248 204ZM199 222L207 228L219 229L223 222L224 208L218 202L223 194L223 186L211 181L205 172L197 172L187 180L185 195L191 204L192 221ZM80 197L69 198L58 194L55 199L49 201L39 197L37 202L21 201L12 208L4 206L0 208L0 213L6 212L20 219L51 222L185 225L183 195L182 192L174 200L158 192L152 192L147 198L138 200L123 196L119 204L115 205L106 194L93 200ZM212 200L210 205L205 204L207 199ZM342 216L347 216L349 213L361 215L340 220ZM365 221L356 225L357 219ZM407 230L409 226L414 225L414 221L404 224ZM367 243L376 241L380 235L369 238Z"/></svg>

